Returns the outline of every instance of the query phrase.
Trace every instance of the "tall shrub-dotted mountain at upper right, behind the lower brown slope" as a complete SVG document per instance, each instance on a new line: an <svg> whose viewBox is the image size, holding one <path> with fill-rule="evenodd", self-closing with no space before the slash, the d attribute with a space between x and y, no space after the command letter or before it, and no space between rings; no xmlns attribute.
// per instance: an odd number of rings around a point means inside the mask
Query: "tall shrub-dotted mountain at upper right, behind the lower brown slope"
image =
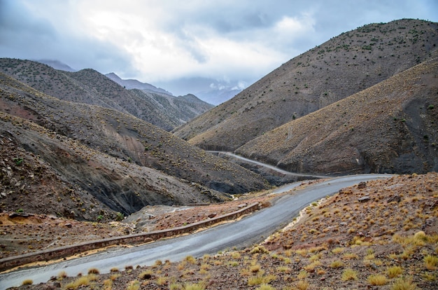
<svg viewBox="0 0 438 290"><path fill-rule="evenodd" d="M365 90L437 52L438 23L395 20L344 32L275 69L174 133L203 149L248 141Z"/></svg>

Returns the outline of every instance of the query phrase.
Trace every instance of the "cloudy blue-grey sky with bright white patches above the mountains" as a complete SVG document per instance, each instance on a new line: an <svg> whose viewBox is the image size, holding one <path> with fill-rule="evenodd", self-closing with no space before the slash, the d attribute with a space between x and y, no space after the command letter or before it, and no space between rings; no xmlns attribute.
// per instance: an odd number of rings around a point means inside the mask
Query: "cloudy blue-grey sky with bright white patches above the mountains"
<svg viewBox="0 0 438 290"><path fill-rule="evenodd" d="M400 18L438 22L438 0L0 0L0 57L244 88L341 32Z"/></svg>

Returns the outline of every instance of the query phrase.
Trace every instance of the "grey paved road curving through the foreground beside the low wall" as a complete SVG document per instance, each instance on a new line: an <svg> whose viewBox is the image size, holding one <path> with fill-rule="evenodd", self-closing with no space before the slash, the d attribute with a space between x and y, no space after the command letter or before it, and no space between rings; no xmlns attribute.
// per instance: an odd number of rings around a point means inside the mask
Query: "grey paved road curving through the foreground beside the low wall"
<svg viewBox="0 0 438 290"><path fill-rule="evenodd" d="M390 177L388 174L359 174L330 179L294 191L293 195L285 195L276 200L271 207L255 212L234 223L129 249L113 249L45 267L1 274L0 289L18 286L24 279L32 279L34 283L46 282L51 276L56 276L62 270L70 276L76 276L78 272L85 274L90 268L98 268L101 273L104 273L109 272L114 267L123 269L125 265L153 265L158 259L181 261L188 255L199 257L204 254L216 254L218 251L231 247L248 247L261 242L275 230L288 224L297 216L299 210L311 202L337 193L339 189L358 184L360 181L388 177ZM285 190L288 188L286 187Z"/></svg>

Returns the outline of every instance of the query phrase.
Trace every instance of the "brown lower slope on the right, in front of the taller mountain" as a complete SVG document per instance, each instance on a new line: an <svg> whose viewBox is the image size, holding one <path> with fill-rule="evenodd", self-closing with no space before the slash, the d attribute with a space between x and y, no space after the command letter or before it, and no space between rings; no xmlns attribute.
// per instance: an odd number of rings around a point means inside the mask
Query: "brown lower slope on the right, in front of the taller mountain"
<svg viewBox="0 0 438 290"><path fill-rule="evenodd" d="M236 150L292 172L438 171L438 58Z"/></svg>

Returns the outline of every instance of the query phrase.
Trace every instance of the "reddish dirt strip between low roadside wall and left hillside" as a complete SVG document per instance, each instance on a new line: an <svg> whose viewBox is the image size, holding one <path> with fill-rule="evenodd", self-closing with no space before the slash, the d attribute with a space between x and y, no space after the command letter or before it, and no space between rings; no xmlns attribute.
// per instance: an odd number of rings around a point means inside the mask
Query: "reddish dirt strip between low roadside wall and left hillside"
<svg viewBox="0 0 438 290"><path fill-rule="evenodd" d="M148 206L110 223L76 221L45 214L3 212L0 214L0 258L52 249L107 237L164 230L235 212L253 202L271 197L252 197L227 203L190 207Z"/></svg>

